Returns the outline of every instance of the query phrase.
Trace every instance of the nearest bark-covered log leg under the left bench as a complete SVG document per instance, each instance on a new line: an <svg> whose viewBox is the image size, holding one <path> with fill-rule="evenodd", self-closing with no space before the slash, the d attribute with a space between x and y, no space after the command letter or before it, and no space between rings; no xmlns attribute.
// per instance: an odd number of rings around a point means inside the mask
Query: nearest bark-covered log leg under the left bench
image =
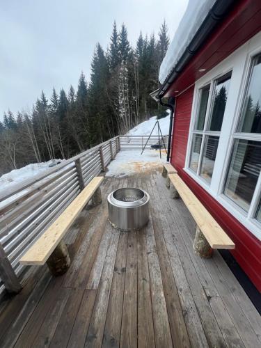
<svg viewBox="0 0 261 348"><path fill-rule="evenodd" d="M47 266L49 267L50 272L53 276L61 276L64 274L70 267L71 260L68 253L68 248L61 240L61 242L56 246L52 255L47 260Z"/></svg>

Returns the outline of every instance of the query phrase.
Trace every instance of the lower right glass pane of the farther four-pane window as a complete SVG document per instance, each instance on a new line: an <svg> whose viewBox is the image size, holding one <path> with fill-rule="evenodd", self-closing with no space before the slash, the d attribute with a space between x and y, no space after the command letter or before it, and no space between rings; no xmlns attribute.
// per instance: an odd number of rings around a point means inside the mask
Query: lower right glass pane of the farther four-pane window
<svg viewBox="0 0 261 348"><path fill-rule="evenodd" d="M206 136L204 143L200 176L210 183L216 159L216 150L219 146L219 136Z"/></svg>

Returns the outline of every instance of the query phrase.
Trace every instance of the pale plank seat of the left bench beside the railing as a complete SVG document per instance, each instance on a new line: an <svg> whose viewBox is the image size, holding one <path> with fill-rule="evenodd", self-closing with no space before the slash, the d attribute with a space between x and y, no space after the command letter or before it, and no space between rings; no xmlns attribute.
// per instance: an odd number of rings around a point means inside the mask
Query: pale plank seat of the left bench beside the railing
<svg viewBox="0 0 261 348"><path fill-rule="evenodd" d="M86 188L79 193L73 202L58 216L43 235L29 248L19 260L21 264L40 265L45 264L56 246L61 242L65 233L74 223L81 210L92 198L93 193L100 187L104 177L94 177Z"/></svg>

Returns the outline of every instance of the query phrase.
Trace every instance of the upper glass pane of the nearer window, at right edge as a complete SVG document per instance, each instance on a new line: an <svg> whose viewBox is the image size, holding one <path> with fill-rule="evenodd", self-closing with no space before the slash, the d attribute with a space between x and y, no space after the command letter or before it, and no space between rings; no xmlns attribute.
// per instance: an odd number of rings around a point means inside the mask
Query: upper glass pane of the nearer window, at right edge
<svg viewBox="0 0 261 348"><path fill-rule="evenodd" d="M261 133L261 54L253 60L253 69L237 131Z"/></svg>

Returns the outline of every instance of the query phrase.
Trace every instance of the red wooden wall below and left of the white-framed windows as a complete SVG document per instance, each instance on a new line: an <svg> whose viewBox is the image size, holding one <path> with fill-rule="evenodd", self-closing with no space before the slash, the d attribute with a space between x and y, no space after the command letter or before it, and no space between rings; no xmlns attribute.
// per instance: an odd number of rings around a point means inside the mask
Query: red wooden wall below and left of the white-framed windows
<svg viewBox="0 0 261 348"><path fill-rule="evenodd" d="M183 170L187 153L192 99L193 87L176 98L171 163L191 191L235 242L236 247L234 251L231 251L232 255L261 292L261 242Z"/></svg>

